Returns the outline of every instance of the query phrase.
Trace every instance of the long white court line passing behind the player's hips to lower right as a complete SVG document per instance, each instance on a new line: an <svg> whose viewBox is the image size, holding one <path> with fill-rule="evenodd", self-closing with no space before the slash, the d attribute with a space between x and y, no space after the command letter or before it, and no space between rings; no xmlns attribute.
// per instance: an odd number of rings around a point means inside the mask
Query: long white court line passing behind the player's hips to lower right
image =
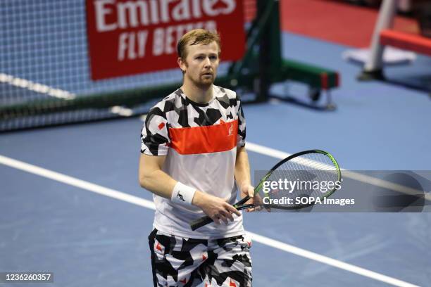
<svg viewBox="0 0 431 287"><path fill-rule="evenodd" d="M252 146L254 144L248 143L248 145ZM250 149L250 151L251 151L251 149ZM275 151L275 150L273 150L273 151ZM280 151L275 151L275 152L282 153ZM285 156L283 156L283 158L285 158ZM59 181L63 184L76 186L80 189L85 189L87 191L99 193L99 194L104 195L104 196L108 196L108 197L115 198L118 200L123 200L127 203L139 205L139 206L142 206L144 208L149 208L151 210L155 209L154 203L150 200L146 200L144 198L139 198L137 196L132 196L130 194L123 193L120 191L115 191L114 189L108 189L104 186L92 184L88 181L77 179L75 177L69 177L68 175L54 172L52 170L46 170L42 167L37 167L36 165L30 165L29 163L22 162L20 160L14 160L13 158L7 158L6 156L0 155L0 163L3 165L7 165L8 167L13 167L17 170L23 170L25 172L30 172L32 174L39 175L40 177L46 177L46 178L52 179L54 181ZM311 251L308 251L308 250L305 250L302 248L297 248L293 245L289 245L289 244L283 243L281 241L276 241L276 240L269 238L269 237L266 237L266 236L261 236L259 234L255 234L252 232L248 232L248 233L250 234L251 238L258 243L261 243L263 245L268 245L272 248L277 248L279 250L283 250L285 252L292 253L294 255L306 257L306 258L311 259L311 260L315 260L315 261L318 261L318 262L321 262L324 264L328 264L332 267L344 269L346 271L353 272L355 274L359 274L362 276L366 276L370 279L382 281L382 282L385 282L385 283L388 283L388 284L391 284L394 286L418 287L418 286L413 285L411 283L401 281L399 279L395 279L395 278L392 278L392 277L389 277L389 276L386 276L386 275L383 275L383 274L380 274L377 272L373 272L373 271L370 271L368 269L357 267L355 265L352 265L352 264L349 264L346 262L335 260L333 258L324 256L324 255L320 255L318 253L313 253Z"/></svg>

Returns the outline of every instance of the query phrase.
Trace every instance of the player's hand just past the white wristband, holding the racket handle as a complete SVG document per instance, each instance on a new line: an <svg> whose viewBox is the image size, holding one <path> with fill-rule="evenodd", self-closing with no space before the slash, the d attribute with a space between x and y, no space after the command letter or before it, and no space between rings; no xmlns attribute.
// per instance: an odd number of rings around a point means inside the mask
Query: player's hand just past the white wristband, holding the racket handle
<svg viewBox="0 0 431 287"><path fill-rule="evenodd" d="M204 210L205 214L211 217L215 224L220 224L222 221L227 224L228 220L233 221L232 214L241 216L241 213L223 198L211 196L202 191L194 193L192 204Z"/></svg>

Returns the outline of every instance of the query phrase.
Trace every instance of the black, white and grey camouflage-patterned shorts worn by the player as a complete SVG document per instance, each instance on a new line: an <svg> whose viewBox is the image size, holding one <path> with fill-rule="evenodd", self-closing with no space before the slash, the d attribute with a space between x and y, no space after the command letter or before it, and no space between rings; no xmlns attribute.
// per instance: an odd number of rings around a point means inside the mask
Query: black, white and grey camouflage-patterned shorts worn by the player
<svg viewBox="0 0 431 287"><path fill-rule="evenodd" d="M251 240L182 238L154 229L149 235L155 287L251 286Z"/></svg>

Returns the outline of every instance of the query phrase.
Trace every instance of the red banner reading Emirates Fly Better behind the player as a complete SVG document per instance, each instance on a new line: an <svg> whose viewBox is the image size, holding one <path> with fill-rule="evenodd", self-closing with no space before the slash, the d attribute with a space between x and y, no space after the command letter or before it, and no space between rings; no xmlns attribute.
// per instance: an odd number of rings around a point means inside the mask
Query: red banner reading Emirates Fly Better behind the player
<svg viewBox="0 0 431 287"><path fill-rule="evenodd" d="M92 79L177 67L177 42L189 30L217 30L223 60L245 50L242 0L87 0Z"/></svg>

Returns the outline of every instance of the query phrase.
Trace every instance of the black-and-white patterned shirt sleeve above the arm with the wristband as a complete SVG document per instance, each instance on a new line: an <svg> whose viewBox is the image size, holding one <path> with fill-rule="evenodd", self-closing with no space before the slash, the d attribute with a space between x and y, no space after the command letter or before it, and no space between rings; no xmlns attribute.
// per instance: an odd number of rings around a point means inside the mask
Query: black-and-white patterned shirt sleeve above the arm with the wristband
<svg viewBox="0 0 431 287"><path fill-rule="evenodd" d="M149 111L142 127L141 153L167 155L169 143L168 121L163 111L155 106Z"/></svg>

